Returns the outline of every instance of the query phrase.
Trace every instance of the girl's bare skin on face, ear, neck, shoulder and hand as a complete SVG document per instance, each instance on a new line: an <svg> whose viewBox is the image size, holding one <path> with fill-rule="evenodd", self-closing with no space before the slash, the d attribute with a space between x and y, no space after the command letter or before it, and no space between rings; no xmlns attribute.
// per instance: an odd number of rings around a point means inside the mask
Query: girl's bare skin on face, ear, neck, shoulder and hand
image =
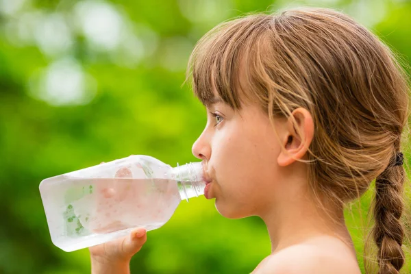
<svg viewBox="0 0 411 274"><path fill-rule="evenodd" d="M330 203L324 214L310 192L307 166L298 161L306 159L314 136L310 112L292 112L295 128L285 118L272 125L252 103L234 111L216 97L207 110L192 153L208 161L208 198L229 219L260 216L269 231L271 254L253 274L360 273L343 208ZM110 273L104 272L110 267L129 273L129 259L145 240L128 237L90 248L93 273Z"/></svg>

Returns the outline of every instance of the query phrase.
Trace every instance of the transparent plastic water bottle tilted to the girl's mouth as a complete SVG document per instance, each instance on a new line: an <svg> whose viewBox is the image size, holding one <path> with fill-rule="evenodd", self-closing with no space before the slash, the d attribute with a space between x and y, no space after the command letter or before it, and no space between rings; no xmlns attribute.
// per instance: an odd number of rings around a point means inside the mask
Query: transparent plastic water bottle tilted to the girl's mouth
<svg viewBox="0 0 411 274"><path fill-rule="evenodd" d="M40 195L53 244L75 251L164 225L182 199L204 194L206 163L173 168L131 155L42 180Z"/></svg>

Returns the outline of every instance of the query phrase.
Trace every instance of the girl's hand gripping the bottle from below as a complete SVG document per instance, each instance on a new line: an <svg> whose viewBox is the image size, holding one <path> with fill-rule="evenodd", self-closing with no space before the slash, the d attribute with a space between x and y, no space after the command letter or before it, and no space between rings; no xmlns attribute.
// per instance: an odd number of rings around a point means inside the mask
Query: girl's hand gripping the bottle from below
<svg viewBox="0 0 411 274"><path fill-rule="evenodd" d="M146 241L147 232L144 228L133 229L129 236L89 247L92 263L128 264Z"/></svg>

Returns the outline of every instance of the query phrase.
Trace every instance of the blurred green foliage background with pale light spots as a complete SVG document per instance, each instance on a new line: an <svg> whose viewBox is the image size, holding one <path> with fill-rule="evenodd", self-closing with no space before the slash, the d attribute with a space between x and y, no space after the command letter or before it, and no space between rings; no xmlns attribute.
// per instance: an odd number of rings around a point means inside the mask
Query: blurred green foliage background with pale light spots
<svg viewBox="0 0 411 274"><path fill-rule="evenodd" d="M52 245L40 181L130 154L195 161L206 112L182 87L195 42L227 18L301 5L347 12L410 64L404 0L0 0L0 273L89 273L87 249ZM362 263L359 215L347 211ZM250 273L270 250L260 219L224 219L200 197L148 233L132 273Z"/></svg>

